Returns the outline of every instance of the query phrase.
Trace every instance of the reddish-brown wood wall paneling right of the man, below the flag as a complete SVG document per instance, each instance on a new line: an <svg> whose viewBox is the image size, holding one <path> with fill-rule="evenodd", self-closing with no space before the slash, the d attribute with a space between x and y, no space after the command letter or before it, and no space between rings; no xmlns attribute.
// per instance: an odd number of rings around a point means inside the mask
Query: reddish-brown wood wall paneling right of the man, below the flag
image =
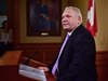
<svg viewBox="0 0 108 81"><path fill-rule="evenodd" d="M108 51L96 52L98 81L108 81Z"/></svg>

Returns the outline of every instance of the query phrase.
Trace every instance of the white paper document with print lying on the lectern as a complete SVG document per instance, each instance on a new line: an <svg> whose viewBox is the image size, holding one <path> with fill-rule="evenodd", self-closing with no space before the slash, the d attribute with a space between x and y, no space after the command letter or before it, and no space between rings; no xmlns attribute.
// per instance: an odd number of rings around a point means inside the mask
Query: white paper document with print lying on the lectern
<svg viewBox="0 0 108 81"><path fill-rule="evenodd" d="M39 79L41 81L46 81L46 77L43 70L39 70L37 68L23 64L19 65L19 73L35 79Z"/></svg>

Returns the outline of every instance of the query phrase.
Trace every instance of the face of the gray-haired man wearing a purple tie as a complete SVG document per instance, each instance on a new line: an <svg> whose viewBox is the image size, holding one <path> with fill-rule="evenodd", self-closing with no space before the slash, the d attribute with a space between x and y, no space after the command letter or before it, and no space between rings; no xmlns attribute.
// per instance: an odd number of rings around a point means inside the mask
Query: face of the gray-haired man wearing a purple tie
<svg viewBox="0 0 108 81"><path fill-rule="evenodd" d="M62 15L62 24L65 30L72 31L79 26L79 17L75 15L73 10L67 9Z"/></svg>

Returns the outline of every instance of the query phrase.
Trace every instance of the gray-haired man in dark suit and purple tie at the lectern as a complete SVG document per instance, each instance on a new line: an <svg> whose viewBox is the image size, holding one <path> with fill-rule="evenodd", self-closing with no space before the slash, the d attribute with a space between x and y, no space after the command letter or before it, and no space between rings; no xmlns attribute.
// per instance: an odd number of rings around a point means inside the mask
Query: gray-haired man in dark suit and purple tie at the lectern
<svg viewBox="0 0 108 81"><path fill-rule="evenodd" d="M69 38L62 51L65 40L63 41L55 60L50 66L39 69L53 72L58 60L56 81L97 81L95 41L82 25L80 10L67 6L62 17L63 27Z"/></svg>

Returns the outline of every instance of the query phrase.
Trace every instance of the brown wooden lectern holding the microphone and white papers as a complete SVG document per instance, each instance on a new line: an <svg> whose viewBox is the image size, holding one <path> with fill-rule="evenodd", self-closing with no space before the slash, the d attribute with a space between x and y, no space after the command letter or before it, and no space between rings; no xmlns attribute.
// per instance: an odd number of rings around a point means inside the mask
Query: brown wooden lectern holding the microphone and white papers
<svg viewBox="0 0 108 81"><path fill-rule="evenodd" d="M27 59L27 57L23 56L23 51L5 52L5 54L0 57L0 81L40 81L18 73L19 64L24 64ZM35 68L46 66L33 59L30 59L28 64ZM52 73L45 72L45 75L48 81L56 80Z"/></svg>

